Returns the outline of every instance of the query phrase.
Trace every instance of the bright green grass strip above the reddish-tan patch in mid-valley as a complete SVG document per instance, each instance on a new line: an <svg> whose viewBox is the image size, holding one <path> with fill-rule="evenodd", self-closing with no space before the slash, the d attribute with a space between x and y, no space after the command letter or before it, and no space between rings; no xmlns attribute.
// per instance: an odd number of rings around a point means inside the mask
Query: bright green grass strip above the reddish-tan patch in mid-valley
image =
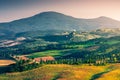
<svg viewBox="0 0 120 80"><path fill-rule="evenodd" d="M46 50L46 51L42 51L42 52L35 52L35 53L32 53L32 54L29 54L28 57L29 58L36 58L36 57L44 57L44 56L53 56L53 57L64 56L67 53L79 51L80 49L83 49L83 48L88 47L90 45L93 45L93 44L92 43L88 43L88 44L70 44L70 45L67 45L68 49Z"/></svg>

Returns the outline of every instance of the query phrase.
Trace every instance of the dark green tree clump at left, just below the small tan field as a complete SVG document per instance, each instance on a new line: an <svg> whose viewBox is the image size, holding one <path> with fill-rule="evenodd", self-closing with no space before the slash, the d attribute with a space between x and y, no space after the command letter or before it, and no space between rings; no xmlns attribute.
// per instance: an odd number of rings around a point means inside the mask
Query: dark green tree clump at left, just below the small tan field
<svg viewBox="0 0 120 80"><path fill-rule="evenodd" d="M16 64L11 64L6 67L0 67L0 73L6 73L6 72L22 72L26 70L31 70L34 68L38 68L42 66L38 63L30 63L29 60L20 60L17 61Z"/></svg>

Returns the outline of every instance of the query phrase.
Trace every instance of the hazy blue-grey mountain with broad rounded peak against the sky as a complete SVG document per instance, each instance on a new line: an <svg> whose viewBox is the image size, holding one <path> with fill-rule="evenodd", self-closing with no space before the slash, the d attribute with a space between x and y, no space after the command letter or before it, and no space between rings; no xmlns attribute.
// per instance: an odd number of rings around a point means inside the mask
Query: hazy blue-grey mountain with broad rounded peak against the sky
<svg viewBox="0 0 120 80"><path fill-rule="evenodd" d="M12 33L37 30L73 31L75 29L78 31L89 31L99 28L119 28L119 26L119 21L104 16L94 19L79 19L50 11L8 23L0 23L0 30L9 31Z"/></svg>

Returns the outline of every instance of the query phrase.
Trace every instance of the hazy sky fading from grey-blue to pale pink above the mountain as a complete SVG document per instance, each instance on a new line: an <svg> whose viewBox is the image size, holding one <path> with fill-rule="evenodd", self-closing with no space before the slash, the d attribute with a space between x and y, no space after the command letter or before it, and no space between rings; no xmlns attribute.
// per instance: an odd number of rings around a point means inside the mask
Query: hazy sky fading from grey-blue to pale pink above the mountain
<svg viewBox="0 0 120 80"><path fill-rule="evenodd" d="M76 18L107 16L120 20L120 0L0 0L0 22L56 11Z"/></svg>

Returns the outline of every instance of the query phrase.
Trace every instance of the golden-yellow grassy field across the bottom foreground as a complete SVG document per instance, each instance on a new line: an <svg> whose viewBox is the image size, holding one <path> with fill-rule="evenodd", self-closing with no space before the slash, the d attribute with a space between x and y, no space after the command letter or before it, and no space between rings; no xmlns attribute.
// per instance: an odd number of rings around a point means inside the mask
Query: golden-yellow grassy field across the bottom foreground
<svg viewBox="0 0 120 80"><path fill-rule="evenodd" d="M120 80L120 64L44 65L30 71L1 74L0 80Z"/></svg>

